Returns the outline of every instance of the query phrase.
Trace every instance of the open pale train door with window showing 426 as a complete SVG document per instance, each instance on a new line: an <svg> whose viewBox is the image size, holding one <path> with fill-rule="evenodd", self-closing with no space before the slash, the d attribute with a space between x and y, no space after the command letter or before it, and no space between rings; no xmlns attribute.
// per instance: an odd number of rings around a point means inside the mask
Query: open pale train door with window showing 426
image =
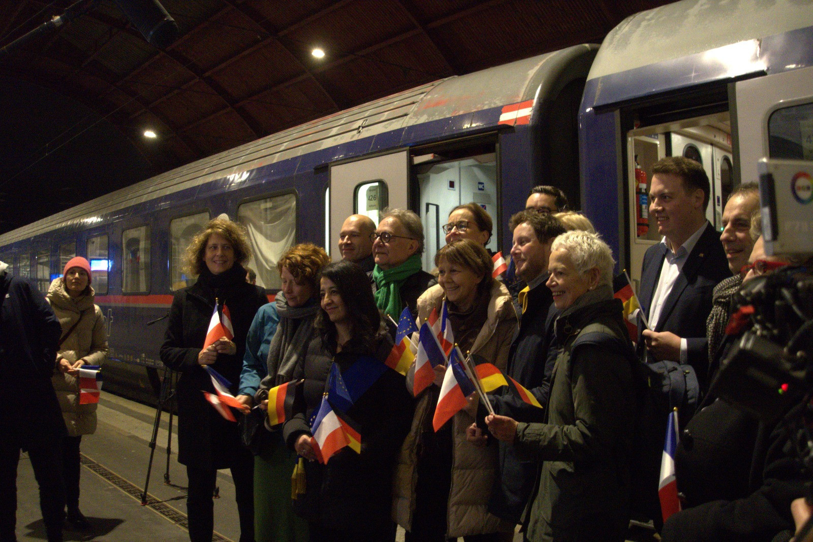
<svg viewBox="0 0 813 542"><path fill-rule="evenodd" d="M338 247L341 223L351 214L366 214L377 226L379 213L385 207L406 209L408 184L407 150L331 164L326 198L330 202L327 233L330 247Z"/></svg>

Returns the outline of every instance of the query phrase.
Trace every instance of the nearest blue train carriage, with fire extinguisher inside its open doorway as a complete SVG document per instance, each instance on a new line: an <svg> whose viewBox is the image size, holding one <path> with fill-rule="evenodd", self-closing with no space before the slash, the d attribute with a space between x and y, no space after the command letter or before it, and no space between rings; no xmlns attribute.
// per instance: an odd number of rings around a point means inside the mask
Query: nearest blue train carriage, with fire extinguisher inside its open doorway
<svg viewBox="0 0 813 542"><path fill-rule="evenodd" d="M660 240L644 211L659 158L702 163L718 230L760 157L813 159L811 65L811 2L684 0L607 35L579 114L582 205L634 282Z"/></svg>

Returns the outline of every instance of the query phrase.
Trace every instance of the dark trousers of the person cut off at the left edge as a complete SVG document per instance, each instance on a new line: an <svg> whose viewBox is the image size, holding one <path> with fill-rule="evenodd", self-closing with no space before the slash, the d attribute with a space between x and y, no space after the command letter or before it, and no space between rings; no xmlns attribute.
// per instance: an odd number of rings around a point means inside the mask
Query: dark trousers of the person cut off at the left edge
<svg viewBox="0 0 813 542"><path fill-rule="evenodd" d="M17 464L23 445L28 450L28 458L40 488L40 510L48 540L62 542L65 486L61 468L61 439L33 444L21 443L9 435L0 439L0 542L17 540Z"/></svg>

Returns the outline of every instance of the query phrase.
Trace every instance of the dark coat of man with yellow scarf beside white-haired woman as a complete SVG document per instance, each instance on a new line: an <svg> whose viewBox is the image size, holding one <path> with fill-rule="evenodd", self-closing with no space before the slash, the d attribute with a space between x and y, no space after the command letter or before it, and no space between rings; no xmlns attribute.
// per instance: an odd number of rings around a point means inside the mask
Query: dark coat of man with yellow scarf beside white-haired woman
<svg viewBox="0 0 813 542"><path fill-rule="evenodd" d="M550 375L553 372L555 355L548 356L550 323L548 312L553 306L550 289L541 282L528 291L528 308L520 317L511 351L508 354L507 374L527 388L541 405L545 405L550 394ZM499 415L510 416L520 422L541 422L544 409L523 402L515 394L503 388L502 394L492 396L494 411ZM516 457L513 446L499 443L500 476L495 480L489 512L514 523L520 516L533 492L537 477L537 463Z"/></svg>

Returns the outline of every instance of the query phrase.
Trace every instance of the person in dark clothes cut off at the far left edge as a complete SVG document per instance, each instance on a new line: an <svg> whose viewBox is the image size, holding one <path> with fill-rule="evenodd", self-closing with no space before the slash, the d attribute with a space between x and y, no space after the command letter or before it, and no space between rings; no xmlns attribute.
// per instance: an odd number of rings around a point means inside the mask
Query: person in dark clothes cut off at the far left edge
<svg viewBox="0 0 813 542"><path fill-rule="evenodd" d="M0 261L0 540L17 540L17 463L28 458L40 487L49 542L61 542L65 517L62 450L65 424L50 377L54 373L59 320L28 282L11 277Z"/></svg>

